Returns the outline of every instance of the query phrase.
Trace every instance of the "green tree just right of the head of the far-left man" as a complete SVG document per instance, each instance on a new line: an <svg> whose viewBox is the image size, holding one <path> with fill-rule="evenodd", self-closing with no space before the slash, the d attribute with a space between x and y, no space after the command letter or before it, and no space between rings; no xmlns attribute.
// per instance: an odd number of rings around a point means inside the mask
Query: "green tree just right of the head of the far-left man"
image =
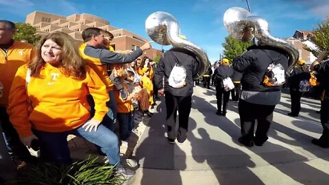
<svg viewBox="0 0 329 185"><path fill-rule="evenodd" d="M27 23L15 23L16 34L14 34L14 40L21 41L27 40L32 45L40 40L41 36L36 34L36 27L29 25Z"/></svg>

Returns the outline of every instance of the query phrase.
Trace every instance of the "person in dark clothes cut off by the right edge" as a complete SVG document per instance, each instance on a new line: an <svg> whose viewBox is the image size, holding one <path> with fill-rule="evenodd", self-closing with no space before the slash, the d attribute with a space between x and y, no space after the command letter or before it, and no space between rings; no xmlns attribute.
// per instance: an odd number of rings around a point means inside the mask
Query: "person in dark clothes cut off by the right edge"
<svg viewBox="0 0 329 185"><path fill-rule="evenodd" d="M319 147L329 148L329 51L321 51L317 59L310 65L310 70L317 72L317 79L324 88L324 96L321 98L320 120L324 131L319 139L314 138L312 143Z"/></svg>

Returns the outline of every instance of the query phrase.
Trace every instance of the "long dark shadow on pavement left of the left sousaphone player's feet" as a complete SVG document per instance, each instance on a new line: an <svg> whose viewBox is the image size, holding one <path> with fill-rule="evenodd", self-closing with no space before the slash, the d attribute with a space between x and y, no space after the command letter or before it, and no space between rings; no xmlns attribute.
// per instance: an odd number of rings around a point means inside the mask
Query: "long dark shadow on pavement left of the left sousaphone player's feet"
<svg viewBox="0 0 329 185"><path fill-rule="evenodd" d="M140 143L136 149L135 158L141 162L143 167L142 185L149 184L182 184L180 170L186 169L186 155L179 147L169 144L164 133L167 132L166 125L166 107L164 99L157 107L157 112L149 120L147 129L143 134ZM175 153L184 153L184 155L175 156ZM180 160L179 167L176 167L175 161ZM150 173L148 169L167 169L170 173Z"/></svg>

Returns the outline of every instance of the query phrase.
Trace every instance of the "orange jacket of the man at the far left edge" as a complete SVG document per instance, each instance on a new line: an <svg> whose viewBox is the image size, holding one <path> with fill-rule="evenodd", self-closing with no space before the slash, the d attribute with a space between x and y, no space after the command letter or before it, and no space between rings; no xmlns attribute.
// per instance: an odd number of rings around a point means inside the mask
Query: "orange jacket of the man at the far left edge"
<svg viewBox="0 0 329 185"><path fill-rule="evenodd" d="M33 46L28 43L14 42L8 48L7 53L0 49L0 82L3 84L3 96L0 98L0 106L8 105L8 97L12 80L17 69L32 60Z"/></svg>

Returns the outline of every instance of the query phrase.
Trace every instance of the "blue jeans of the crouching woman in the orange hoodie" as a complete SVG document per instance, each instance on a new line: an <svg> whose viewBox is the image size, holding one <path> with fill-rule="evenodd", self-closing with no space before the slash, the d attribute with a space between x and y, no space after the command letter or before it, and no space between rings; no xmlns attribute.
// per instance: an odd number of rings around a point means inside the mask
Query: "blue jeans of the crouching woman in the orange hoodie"
<svg viewBox="0 0 329 185"><path fill-rule="evenodd" d="M101 151L108 156L110 164L121 165L117 135L104 125L99 125L96 132L86 132L82 126L67 132L53 133L38 130L33 132L40 140L41 156L50 162L58 164L70 164L72 162L66 138L69 134L73 134L99 146Z"/></svg>

